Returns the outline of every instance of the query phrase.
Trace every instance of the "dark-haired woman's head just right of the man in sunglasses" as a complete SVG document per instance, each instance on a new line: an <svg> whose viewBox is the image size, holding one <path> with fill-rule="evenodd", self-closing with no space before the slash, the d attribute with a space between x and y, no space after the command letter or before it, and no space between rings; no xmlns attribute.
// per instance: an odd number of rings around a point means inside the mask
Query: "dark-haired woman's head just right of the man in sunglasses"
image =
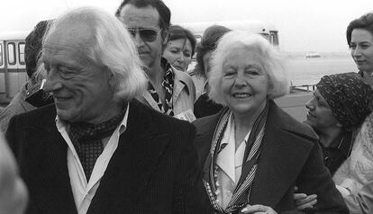
<svg viewBox="0 0 373 214"><path fill-rule="evenodd" d="M163 50L163 57L171 66L180 71L187 71L196 51L196 38L193 33L179 25L171 25L168 42Z"/></svg>

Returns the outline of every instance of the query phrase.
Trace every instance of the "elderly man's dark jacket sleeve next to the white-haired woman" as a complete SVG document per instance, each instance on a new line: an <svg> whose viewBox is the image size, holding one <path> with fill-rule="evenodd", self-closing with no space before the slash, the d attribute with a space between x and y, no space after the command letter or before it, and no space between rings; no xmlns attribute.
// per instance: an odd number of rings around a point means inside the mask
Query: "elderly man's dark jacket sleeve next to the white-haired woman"
<svg viewBox="0 0 373 214"><path fill-rule="evenodd" d="M212 208L207 202L207 194L203 187L198 167L196 149L193 140L196 136L194 126L188 126L186 149L177 165L176 184L173 188L172 213L205 214L212 213Z"/></svg>

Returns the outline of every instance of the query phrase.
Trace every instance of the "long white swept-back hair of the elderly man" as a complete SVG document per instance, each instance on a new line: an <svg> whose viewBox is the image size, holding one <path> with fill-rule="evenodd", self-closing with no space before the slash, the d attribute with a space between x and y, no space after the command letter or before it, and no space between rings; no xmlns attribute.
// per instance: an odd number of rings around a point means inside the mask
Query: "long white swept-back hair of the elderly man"
<svg viewBox="0 0 373 214"><path fill-rule="evenodd" d="M112 72L114 81L110 85L115 98L131 100L141 95L146 89L147 76L141 68L141 61L131 35L113 14L93 7L74 9L50 24L43 45L60 27L75 23L93 26L92 42L82 41L72 45L82 49L82 53L92 63L108 68L103 70Z"/></svg>

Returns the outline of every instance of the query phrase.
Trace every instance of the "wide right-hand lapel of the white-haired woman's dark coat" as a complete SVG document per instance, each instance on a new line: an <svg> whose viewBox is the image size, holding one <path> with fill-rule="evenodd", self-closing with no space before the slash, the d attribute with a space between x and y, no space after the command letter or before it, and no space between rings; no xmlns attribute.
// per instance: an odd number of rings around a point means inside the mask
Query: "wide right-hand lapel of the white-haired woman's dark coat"
<svg viewBox="0 0 373 214"><path fill-rule="evenodd" d="M294 188L296 177L305 165L305 154L310 153L312 145L301 139L292 141L296 132L287 126L284 112L273 103L269 108L250 204L261 203L275 208L289 188Z"/></svg>

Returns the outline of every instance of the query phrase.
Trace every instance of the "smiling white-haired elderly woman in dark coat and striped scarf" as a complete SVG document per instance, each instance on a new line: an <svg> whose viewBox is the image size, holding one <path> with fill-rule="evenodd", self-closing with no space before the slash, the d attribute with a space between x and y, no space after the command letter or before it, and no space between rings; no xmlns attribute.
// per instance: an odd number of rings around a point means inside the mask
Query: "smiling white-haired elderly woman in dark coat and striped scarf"
<svg viewBox="0 0 373 214"><path fill-rule="evenodd" d="M348 213L323 168L314 131L277 107L289 89L267 40L226 33L213 53L209 97L225 107L194 123L203 183L217 213L295 210L295 185L319 195L315 212Z"/></svg>

